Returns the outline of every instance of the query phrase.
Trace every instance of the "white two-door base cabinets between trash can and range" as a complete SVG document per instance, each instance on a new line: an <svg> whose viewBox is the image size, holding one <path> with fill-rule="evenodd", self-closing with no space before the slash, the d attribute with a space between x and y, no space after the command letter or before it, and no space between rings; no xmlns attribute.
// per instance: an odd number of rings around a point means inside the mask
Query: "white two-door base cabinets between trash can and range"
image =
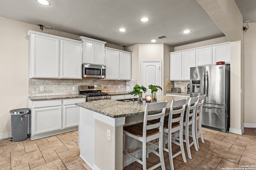
<svg viewBox="0 0 256 170"><path fill-rule="evenodd" d="M31 109L28 133L31 140L78 129L78 106L85 98L63 100L28 100Z"/></svg>

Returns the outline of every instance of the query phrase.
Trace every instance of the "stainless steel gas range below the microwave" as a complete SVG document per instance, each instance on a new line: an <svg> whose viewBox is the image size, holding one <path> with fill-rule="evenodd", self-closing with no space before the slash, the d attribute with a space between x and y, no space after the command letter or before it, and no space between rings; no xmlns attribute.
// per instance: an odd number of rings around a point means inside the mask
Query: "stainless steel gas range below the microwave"
<svg viewBox="0 0 256 170"><path fill-rule="evenodd" d="M110 94L102 93L101 86L79 86L79 94L87 96L87 102L97 101L97 100L109 100L111 99Z"/></svg>

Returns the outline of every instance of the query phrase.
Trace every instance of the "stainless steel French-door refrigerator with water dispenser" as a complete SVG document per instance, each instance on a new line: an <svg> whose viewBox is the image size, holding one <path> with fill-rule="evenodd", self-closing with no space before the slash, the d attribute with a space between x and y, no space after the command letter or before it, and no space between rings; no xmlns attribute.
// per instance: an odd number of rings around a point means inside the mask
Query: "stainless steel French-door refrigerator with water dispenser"
<svg viewBox="0 0 256 170"><path fill-rule="evenodd" d="M190 68L190 97L206 95L202 125L226 132L230 127L230 65Z"/></svg>

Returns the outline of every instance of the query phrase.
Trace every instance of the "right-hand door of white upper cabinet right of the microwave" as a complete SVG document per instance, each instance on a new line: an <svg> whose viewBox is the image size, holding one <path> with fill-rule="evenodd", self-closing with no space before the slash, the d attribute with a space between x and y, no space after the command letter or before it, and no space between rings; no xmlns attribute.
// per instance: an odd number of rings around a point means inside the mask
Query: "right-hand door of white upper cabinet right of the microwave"
<svg viewBox="0 0 256 170"><path fill-rule="evenodd" d="M132 77L132 55L120 52L120 80L131 80Z"/></svg>

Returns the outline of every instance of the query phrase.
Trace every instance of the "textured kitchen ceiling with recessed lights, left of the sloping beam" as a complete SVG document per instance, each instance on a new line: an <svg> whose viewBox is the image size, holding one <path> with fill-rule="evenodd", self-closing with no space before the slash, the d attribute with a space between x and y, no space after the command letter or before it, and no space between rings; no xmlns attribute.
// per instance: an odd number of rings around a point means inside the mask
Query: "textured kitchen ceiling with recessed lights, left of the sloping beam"
<svg viewBox="0 0 256 170"><path fill-rule="evenodd" d="M168 37L156 43L174 47L224 36L196 0L48 1L42 6L36 0L1 0L0 16L126 47L159 35ZM149 21L141 22L142 17ZM192 32L183 34L184 29Z"/></svg>

